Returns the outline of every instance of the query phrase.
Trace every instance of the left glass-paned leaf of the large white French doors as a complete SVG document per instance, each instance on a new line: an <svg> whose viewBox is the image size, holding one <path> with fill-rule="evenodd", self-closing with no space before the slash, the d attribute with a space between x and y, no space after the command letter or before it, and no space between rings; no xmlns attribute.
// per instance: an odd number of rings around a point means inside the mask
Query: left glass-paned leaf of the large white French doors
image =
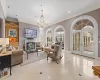
<svg viewBox="0 0 100 80"><path fill-rule="evenodd" d="M81 32L80 30L73 31L73 50L72 53L81 55Z"/></svg>

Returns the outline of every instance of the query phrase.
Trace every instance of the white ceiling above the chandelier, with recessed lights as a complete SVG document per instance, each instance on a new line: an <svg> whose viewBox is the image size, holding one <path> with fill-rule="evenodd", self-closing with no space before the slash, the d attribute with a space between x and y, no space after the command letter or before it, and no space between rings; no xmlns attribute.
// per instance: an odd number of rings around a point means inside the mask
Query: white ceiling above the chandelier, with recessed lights
<svg viewBox="0 0 100 80"><path fill-rule="evenodd" d="M43 5L48 25L99 8L100 0L6 0L7 15L20 22L37 24Z"/></svg>

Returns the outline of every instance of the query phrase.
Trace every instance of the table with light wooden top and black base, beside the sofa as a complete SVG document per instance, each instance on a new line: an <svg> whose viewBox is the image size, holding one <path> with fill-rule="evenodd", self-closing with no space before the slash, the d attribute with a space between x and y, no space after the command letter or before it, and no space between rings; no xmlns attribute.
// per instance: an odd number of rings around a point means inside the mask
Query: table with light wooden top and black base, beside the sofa
<svg viewBox="0 0 100 80"><path fill-rule="evenodd" d="M0 70L2 71L4 68L10 68L11 75L11 55L12 52L8 51L6 53L0 53Z"/></svg>

